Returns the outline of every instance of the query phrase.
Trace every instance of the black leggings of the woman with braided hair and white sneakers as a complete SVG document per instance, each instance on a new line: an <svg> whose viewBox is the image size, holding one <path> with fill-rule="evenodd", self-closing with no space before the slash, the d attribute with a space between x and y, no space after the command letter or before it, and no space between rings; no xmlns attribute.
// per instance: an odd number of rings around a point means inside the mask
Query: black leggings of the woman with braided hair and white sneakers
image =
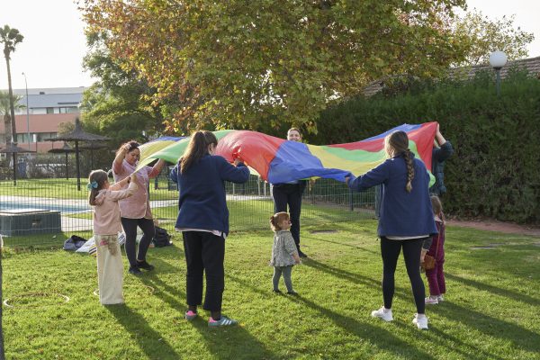
<svg viewBox="0 0 540 360"><path fill-rule="evenodd" d="M401 247L403 247L403 257L405 267L409 275L414 302L417 312L423 314L426 310L424 297L426 289L420 276L420 253L425 238L409 238L405 240L391 240L381 238L381 255L383 256L383 299L384 307L392 309L392 299L394 294L394 273L400 257Z"/></svg>

